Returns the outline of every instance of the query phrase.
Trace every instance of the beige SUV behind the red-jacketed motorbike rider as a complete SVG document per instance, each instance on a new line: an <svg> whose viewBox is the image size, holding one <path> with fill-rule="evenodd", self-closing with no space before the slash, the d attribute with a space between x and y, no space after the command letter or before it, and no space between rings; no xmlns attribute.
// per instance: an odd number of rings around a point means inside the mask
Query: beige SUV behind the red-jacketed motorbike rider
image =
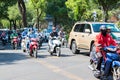
<svg viewBox="0 0 120 80"><path fill-rule="evenodd" d="M100 26L105 25L111 28L120 41L120 30L114 23L105 22L76 22L69 34L68 45L72 52L79 53L80 49L92 50L96 34L100 32Z"/></svg>

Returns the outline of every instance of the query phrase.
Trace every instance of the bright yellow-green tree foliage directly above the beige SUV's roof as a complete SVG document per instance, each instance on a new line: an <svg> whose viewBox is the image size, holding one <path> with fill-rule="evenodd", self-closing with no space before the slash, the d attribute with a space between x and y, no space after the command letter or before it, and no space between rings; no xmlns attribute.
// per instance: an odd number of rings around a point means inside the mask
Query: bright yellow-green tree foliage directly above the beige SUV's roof
<svg viewBox="0 0 120 80"><path fill-rule="evenodd" d="M69 16L75 20L81 20L88 8L88 0L67 0L66 6L68 8Z"/></svg>

